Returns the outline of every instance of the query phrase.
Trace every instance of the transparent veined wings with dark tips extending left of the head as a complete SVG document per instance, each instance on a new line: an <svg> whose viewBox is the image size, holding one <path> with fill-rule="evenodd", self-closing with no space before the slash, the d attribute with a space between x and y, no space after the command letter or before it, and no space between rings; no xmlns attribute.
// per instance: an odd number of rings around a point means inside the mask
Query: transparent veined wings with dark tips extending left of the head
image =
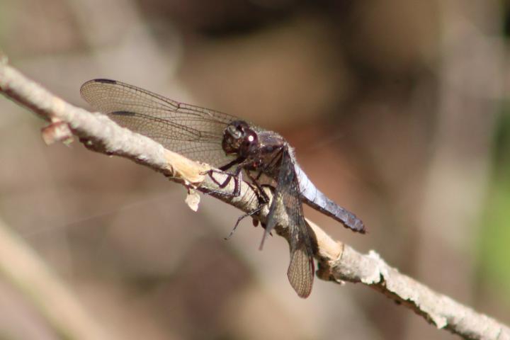
<svg viewBox="0 0 510 340"><path fill-rule="evenodd" d="M233 157L221 147L223 131L238 118L179 103L136 86L94 79L81 86L81 96L120 126L161 143L171 151L212 166Z"/></svg>

